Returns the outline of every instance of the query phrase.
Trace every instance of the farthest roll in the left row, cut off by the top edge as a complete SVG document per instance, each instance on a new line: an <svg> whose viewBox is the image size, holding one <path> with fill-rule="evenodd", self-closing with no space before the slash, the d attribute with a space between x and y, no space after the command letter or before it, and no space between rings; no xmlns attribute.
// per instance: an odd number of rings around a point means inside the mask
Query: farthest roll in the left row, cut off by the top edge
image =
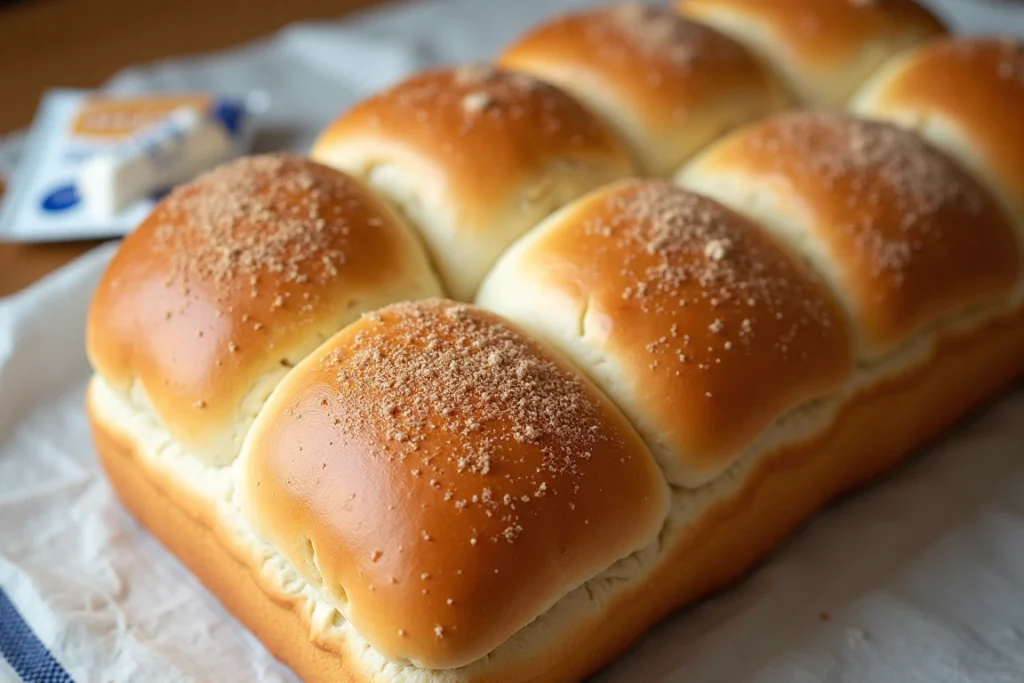
<svg viewBox="0 0 1024 683"><path fill-rule="evenodd" d="M890 57L945 33L913 0L676 0L746 45L802 102L835 106Z"/></svg>

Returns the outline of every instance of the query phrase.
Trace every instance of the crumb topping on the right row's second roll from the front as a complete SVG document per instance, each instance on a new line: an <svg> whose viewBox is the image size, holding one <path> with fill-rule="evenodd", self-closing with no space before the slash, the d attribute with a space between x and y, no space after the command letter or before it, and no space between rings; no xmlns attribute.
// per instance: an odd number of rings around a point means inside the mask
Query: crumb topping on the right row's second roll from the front
<svg viewBox="0 0 1024 683"><path fill-rule="evenodd" d="M640 181L609 196L606 209L584 230L607 241L602 249L613 248L622 258L620 274L629 283L622 299L645 313L679 321L667 322L646 344L651 370L707 371L733 352L751 353L760 334L771 334L768 343L788 358L801 336L835 334L835 312L807 275L718 203L668 182ZM710 313L711 346L700 347L680 326L694 313L676 313L691 306ZM672 367L664 367L667 362Z"/></svg>

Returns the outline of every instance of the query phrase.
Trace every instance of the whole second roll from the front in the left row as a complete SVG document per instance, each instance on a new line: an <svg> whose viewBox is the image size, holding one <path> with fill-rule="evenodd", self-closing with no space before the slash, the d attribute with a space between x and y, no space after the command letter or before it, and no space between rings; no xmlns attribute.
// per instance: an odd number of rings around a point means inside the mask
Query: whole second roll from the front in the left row
<svg viewBox="0 0 1024 683"><path fill-rule="evenodd" d="M463 300L545 216L634 173L615 135L572 97L484 65L371 97L324 131L312 158L364 178L404 214Z"/></svg>

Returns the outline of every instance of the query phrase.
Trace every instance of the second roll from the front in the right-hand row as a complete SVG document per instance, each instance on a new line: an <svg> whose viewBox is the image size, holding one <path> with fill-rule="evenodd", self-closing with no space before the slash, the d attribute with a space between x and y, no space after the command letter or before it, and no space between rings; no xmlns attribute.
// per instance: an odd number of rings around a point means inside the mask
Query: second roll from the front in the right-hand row
<svg viewBox="0 0 1024 683"><path fill-rule="evenodd" d="M570 205L499 262L478 300L590 373L685 485L852 369L819 280L750 220L667 181Z"/></svg>

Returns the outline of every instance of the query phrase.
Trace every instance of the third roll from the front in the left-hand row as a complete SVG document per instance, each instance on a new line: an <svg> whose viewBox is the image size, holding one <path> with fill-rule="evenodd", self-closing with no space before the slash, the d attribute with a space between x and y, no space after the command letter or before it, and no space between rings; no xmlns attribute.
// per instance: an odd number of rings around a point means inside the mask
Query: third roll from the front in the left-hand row
<svg viewBox="0 0 1024 683"><path fill-rule="evenodd" d="M786 104L781 84L742 45L666 7L565 14L499 61L575 95L618 131L649 175L669 175L724 132Z"/></svg>

